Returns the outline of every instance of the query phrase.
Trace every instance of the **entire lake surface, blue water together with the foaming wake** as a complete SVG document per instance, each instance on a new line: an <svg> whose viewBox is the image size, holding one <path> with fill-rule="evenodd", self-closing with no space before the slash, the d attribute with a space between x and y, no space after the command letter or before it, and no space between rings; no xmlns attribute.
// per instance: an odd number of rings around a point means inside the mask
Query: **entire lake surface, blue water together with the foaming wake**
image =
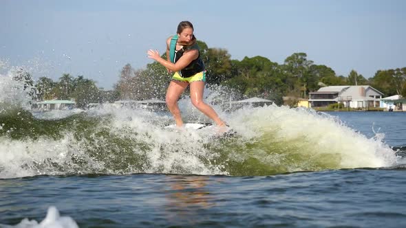
<svg viewBox="0 0 406 228"><path fill-rule="evenodd" d="M237 131L217 137L163 130L171 117L142 109L2 105L0 227L406 225L405 151L392 148L406 113L215 106Z"/></svg>

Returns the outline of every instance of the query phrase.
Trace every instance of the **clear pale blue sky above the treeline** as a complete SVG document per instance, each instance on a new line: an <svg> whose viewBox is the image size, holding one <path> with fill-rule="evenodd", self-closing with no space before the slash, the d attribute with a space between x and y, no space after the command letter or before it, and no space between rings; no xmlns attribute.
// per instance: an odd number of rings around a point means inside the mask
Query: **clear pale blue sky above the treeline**
<svg viewBox="0 0 406 228"><path fill-rule="evenodd" d="M406 67L402 0L0 0L0 73L22 67L34 79L63 73L111 89L127 63L145 69L163 54L180 21L235 60L283 64L305 52L336 75L365 78Z"/></svg>

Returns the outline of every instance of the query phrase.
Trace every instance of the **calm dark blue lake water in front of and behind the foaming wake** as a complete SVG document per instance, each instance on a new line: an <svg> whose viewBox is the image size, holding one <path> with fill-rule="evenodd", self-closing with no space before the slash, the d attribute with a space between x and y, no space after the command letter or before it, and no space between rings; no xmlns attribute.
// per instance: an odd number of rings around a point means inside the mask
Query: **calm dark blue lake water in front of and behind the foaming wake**
<svg viewBox="0 0 406 228"><path fill-rule="evenodd" d="M406 144L406 113L328 114L368 138L378 131L389 146ZM41 222L55 206L79 227L405 227L405 167L1 179L0 224Z"/></svg>

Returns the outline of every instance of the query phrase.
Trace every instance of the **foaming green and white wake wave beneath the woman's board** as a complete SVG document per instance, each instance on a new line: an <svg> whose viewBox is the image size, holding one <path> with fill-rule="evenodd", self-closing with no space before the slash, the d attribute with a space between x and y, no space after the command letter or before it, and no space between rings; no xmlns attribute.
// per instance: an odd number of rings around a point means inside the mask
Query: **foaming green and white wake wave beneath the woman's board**
<svg viewBox="0 0 406 228"><path fill-rule="evenodd" d="M1 82L4 89L14 83L7 77ZM13 98L1 95L1 101L25 102L20 90L6 93ZM230 98L213 91L206 97L237 135L164 130L173 124L167 112L111 104L41 117L17 106L0 115L0 178L89 173L257 176L399 162L383 135L368 139L330 115L276 105L222 111L224 103L218 101ZM210 121L189 98L179 104L185 122Z"/></svg>

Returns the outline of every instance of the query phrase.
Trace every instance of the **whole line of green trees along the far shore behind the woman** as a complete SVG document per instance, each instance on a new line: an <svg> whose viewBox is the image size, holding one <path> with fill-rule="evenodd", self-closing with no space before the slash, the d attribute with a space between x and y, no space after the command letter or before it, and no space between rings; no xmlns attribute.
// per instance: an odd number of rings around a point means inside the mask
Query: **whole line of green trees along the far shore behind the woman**
<svg viewBox="0 0 406 228"><path fill-rule="evenodd" d="M380 70L367 80L355 70L348 77L337 76L330 67L314 64L303 52L288 56L279 65L263 56L232 60L226 49L208 47L203 41L197 41L197 45L200 47L200 58L206 66L207 85L220 85L239 93L240 98L255 96L282 104L282 96L308 98L309 92L317 91L320 87L347 84L370 84L385 95L400 94L406 97L406 67ZM162 58L167 59L166 54ZM22 70L17 80L24 81L27 87L32 86L30 77ZM39 78L35 87L40 100L74 98L78 106L85 106L89 102L114 102L119 99L164 100L170 80L171 73L158 62L153 62L146 69L138 70L129 64L125 65L113 91L100 91L94 81L83 76L74 78L68 73L63 74L58 82L53 82L50 78ZM342 109L341 106L330 108Z"/></svg>

